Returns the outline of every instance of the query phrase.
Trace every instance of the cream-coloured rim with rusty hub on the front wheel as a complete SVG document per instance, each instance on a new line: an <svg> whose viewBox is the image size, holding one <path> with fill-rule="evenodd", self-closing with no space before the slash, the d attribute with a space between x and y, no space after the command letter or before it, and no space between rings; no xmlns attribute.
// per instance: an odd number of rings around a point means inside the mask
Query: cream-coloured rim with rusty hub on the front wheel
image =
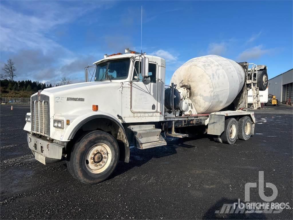
<svg viewBox="0 0 293 220"><path fill-rule="evenodd" d="M86 169L92 173L101 173L109 167L111 159L110 147L104 143L97 143L86 153Z"/></svg>

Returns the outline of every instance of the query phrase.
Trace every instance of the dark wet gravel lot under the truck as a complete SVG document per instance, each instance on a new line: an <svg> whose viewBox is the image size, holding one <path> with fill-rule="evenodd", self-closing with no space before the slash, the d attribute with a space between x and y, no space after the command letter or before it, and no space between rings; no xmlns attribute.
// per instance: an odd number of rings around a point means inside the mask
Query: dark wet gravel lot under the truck
<svg viewBox="0 0 293 220"><path fill-rule="evenodd" d="M1 219L292 219L278 214L215 214L244 201L244 186L276 185L273 202L292 204L292 108L255 111L255 135L234 145L207 137L175 139L164 147L131 148L109 180L93 186L71 177L66 162L42 165L23 131L29 106L1 106ZM257 188L251 202L264 202ZM272 190L265 188L267 196Z"/></svg>

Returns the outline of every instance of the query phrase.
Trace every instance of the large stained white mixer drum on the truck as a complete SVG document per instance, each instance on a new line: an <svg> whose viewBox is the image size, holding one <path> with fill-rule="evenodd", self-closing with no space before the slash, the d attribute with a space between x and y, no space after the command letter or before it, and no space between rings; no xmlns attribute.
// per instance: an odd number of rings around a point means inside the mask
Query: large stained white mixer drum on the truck
<svg viewBox="0 0 293 220"><path fill-rule="evenodd" d="M171 78L177 88L190 85L190 99L197 114L229 106L242 90L244 80L245 72L238 63L217 55L188 60Z"/></svg>

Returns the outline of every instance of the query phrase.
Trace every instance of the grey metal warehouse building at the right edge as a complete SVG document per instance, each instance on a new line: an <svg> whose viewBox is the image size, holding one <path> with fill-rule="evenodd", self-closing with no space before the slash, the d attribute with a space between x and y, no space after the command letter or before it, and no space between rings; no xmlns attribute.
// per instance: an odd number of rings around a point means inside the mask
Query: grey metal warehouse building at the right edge
<svg viewBox="0 0 293 220"><path fill-rule="evenodd" d="M293 102L293 69L269 79L269 94L275 95L279 102Z"/></svg>

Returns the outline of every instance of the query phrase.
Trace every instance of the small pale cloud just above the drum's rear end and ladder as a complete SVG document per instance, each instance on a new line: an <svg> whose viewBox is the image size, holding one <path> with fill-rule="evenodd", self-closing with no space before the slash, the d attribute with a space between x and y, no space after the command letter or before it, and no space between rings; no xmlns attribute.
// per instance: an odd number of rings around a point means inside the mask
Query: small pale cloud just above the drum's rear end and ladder
<svg viewBox="0 0 293 220"><path fill-rule="evenodd" d="M240 53L237 57L239 62L248 61L250 59L258 59L262 55L269 54L275 49L263 49L263 45L258 45L253 48L249 48Z"/></svg>

